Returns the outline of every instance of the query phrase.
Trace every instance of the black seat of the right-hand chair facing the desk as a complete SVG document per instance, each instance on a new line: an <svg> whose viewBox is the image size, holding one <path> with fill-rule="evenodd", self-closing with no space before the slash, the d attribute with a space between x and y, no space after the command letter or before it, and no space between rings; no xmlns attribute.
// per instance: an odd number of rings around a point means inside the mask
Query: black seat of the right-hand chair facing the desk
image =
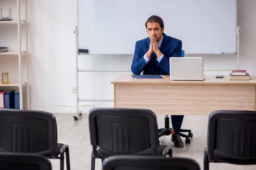
<svg viewBox="0 0 256 170"><path fill-rule="evenodd" d="M254 157L236 157L214 150L215 162L229 163L229 164L255 164L256 158Z"/></svg>

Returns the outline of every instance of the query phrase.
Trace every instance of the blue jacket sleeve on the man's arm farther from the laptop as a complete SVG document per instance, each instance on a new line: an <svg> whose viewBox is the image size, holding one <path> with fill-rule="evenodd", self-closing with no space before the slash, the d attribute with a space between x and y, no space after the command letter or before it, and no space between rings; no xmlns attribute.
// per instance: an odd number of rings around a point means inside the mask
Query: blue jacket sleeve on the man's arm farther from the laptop
<svg viewBox="0 0 256 170"><path fill-rule="evenodd" d="M134 57L133 57L132 63L131 63L132 73L135 75L140 75L141 72L144 70L146 64L147 63L145 62L144 57L140 54L140 51L138 49L138 42L136 42Z"/></svg>

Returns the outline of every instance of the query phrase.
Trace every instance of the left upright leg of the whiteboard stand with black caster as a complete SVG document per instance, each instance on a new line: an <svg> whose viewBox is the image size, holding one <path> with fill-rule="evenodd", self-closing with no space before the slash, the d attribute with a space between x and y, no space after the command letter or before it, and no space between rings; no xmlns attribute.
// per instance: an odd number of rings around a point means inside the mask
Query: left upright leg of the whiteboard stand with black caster
<svg viewBox="0 0 256 170"><path fill-rule="evenodd" d="M74 34L76 36L76 116L73 116L74 120L78 120L78 117L79 116L82 116L82 111L78 111L78 103L79 103L79 100L78 100L78 92L79 92L79 89L78 89L78 34L77 34L77 26L75 27L75 31L74 31Z"/></svg>

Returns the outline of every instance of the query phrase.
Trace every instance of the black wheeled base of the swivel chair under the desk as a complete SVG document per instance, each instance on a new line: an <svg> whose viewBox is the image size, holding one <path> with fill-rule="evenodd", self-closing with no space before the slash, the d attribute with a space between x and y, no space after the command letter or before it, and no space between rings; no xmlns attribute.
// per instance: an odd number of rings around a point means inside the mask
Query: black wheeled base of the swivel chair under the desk
<svg viewBox="0 0 256 170"><path fill-rule="evenodd" d="M169 124L169 117L166 115L166 117L164 118L164 127L158 129L158 138L160 138L161 136L168 136L172 134L172 128L170 128L170 124ZM190 144L191 140L190 138L193 138L193 133L191 133L191 130L188 129L180 129L180 132L188 132L187 135L185 135L184 133L179 133L180 136L186 138L185 143L186 144Z"/></svg>

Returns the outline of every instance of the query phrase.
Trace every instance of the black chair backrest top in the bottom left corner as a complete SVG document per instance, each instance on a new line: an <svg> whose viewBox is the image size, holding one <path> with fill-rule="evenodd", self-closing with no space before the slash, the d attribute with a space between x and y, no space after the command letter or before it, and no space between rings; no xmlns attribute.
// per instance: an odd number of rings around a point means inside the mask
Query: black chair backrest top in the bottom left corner
<svg viewBox="0 0 256 170"><path fill-rule="evenodd" d="M52 170L50 161L37 154L0 153L0 170Z"/></svg>

